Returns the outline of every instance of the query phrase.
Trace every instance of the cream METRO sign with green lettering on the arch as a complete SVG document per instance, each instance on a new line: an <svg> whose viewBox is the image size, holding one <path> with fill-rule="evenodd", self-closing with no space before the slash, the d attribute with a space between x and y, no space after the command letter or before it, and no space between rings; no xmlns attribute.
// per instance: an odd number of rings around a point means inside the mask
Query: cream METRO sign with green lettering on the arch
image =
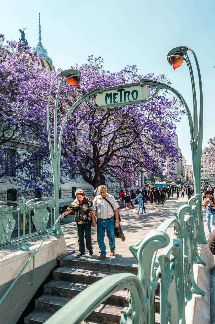
<svg viewBox="0 0 215 324"><path fill-rule="evenodd" d="M120 86L118 89L103 90L102 93L97 94L95 102L98 106L112 105L119 106L136 104L137 101L146 100L150 95L147 86Z"/></svg>

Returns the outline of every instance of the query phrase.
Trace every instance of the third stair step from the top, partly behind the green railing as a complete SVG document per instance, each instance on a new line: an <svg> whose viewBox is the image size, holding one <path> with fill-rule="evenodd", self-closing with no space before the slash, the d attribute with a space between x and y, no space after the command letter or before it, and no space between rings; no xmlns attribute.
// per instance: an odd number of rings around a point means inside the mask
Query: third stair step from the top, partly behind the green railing
<svg viewBox="0 0 215 324"><path fill-rule="evenodd" d="M73 298L89 286L90 284L52 280L44 286L44 294ZM125 300L126 295L127 290L120 290L104 300L103 303L122 307L128 306L128 302Z"/></svg>

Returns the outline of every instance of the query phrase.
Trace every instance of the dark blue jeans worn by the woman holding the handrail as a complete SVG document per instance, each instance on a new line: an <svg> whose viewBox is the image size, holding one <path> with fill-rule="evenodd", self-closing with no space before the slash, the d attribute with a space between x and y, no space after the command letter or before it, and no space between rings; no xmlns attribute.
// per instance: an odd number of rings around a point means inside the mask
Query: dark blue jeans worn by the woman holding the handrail
<svg viewBox="0 0 215 324"><path fill-rule="evenodd" d="M76 223L79 252L81 253L85 253L84 238L86 240L86 247L88 251L92 250L91 226L92 226L91 223L87 223L87 224Z"/></svg>

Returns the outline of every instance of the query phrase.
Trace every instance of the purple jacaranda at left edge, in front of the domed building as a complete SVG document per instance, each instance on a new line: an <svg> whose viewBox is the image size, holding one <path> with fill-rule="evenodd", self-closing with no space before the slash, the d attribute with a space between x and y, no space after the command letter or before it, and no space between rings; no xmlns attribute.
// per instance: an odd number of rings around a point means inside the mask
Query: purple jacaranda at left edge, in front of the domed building
<svg viewBox="0 0 215 324"><path fill-rule="evenodd" d="M9 177L21 195L52 192L50 162L42 162L49 156L46 107L53 77L28 46L4 43L0 35L0 178Z"/></svg>

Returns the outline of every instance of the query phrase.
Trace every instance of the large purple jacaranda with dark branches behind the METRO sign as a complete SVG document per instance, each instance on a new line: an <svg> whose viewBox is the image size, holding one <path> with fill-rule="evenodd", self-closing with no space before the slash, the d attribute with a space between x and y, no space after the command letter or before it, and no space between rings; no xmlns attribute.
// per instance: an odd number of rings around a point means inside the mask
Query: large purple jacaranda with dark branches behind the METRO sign
<svg viewBox="0 0 215 324"><path fill-rule="evenodd" d="M66 112L63 106L70 106L73 100L99 85L110 87L138 82L143 77L138 75L135 65L111 73L103 69L102 63L101 57L89 56L87 64L76 66L81 71L82 81L79 87L65 85L59 104L61 117ZM170 84L165 75L144 77ZM175 135L175 122L185 113L181 106L177 98L165 91L145 105L95 110L89 103L82 103L65 126L61 162L64 173L70 176L72 167L76 175L95 187L101 177L132 185L137 183L140 170L147 174L162 172L167 159L168 166L173 168L178 152L171 138Z"/></svg>

